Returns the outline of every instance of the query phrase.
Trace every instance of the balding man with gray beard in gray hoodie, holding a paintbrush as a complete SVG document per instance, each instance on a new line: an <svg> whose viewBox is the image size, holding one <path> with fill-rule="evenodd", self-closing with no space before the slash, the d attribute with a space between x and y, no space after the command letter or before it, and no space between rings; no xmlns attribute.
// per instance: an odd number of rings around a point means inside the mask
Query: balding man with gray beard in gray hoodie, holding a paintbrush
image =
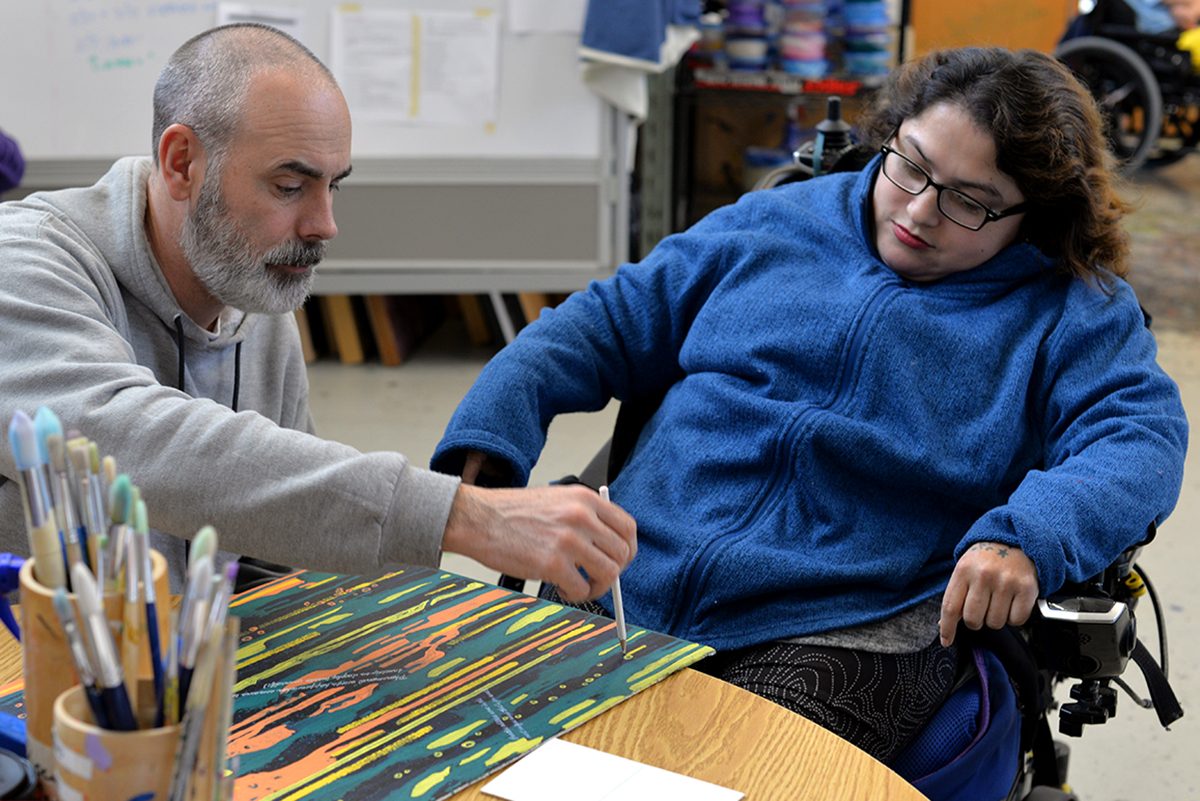
<svg viewBox="0 0 1200 801"><path fill-rule="evenodd" d="M371 572L449 550L600 595L636 532L593 492L467 486L313 434L290 312L349 174L346 100L304 46L252 24L182 44L155 86L150 157L0 204L0 418L47 405L113 454L176 588L211 524L259 560ZM24 553L14 478L4 450L0 550Z"/></svg>

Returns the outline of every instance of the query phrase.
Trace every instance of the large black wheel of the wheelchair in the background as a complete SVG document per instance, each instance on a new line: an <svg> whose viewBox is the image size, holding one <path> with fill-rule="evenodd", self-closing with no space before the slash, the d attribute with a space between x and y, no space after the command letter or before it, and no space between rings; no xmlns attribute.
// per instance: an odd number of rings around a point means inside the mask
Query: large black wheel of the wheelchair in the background
<svg viewBox="0 0 1200 801"><path fill-rule="evenodd" d="M1087 86L1106 116L1109 145L1129 171L1158 145L1163 92L1146 61L1130 48L1099 36L1067 40L1055 58Z"/></svg>

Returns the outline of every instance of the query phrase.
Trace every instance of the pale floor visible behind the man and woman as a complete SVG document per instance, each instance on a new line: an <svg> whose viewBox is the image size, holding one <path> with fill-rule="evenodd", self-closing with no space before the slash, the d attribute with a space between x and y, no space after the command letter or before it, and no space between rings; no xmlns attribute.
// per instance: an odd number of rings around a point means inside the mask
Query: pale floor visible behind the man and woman
<svg viewBox="0 0 1200 801"><path fill-rule="evenodd" d="M1180 383L1188 416L1200 421L1200 157L1140 177L1141 207L1130 223L1134 284L1156 315L1160 361ZM456 402L492 351L472 348L446 324L400 368L343 367L322 361L310 369L312 408L325 436L364 450L398 450L427 464ZM611 429L614 406L595 415L569 415L551 427L534 483L578 470ZM1128 697L1117 717L1072 740L1070 779L1085 801L1183 801L1200 799L1200 448L1188 457L1183 495L1141 564L1165 606L1170 633L1171 681L1188 716L1163 731L1154 715ZM494 580L496 573L460 558L445 566ZM1140 608L1139 632L1157 652L1148 604ZM1141 689L1130 669L1130 683ZM1189 755L1190 754L1190 755Z"/></svg>

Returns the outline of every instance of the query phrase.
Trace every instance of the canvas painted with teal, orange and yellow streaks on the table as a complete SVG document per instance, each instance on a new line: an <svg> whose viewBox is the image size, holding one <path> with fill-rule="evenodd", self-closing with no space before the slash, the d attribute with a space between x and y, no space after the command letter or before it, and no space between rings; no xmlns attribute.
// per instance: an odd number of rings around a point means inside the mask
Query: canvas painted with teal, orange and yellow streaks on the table
<svg viewBox="0 0 1200 801"><path fill-rule="evenodd" d="M445 797L712 654L445 571L240 596L238 801Z"/></svg>

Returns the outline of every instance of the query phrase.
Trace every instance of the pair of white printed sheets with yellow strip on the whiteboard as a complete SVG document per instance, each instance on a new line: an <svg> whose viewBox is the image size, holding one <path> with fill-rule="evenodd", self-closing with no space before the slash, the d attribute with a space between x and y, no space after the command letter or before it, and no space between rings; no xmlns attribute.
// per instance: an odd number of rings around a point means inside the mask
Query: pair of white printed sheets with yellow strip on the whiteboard
<svg viewBox="0 0 1200 801"><path fill-rule="evenodd" d="M330 20L330 65L358 119L414 125L494 122L498 14L365 8Z"/></svg>

